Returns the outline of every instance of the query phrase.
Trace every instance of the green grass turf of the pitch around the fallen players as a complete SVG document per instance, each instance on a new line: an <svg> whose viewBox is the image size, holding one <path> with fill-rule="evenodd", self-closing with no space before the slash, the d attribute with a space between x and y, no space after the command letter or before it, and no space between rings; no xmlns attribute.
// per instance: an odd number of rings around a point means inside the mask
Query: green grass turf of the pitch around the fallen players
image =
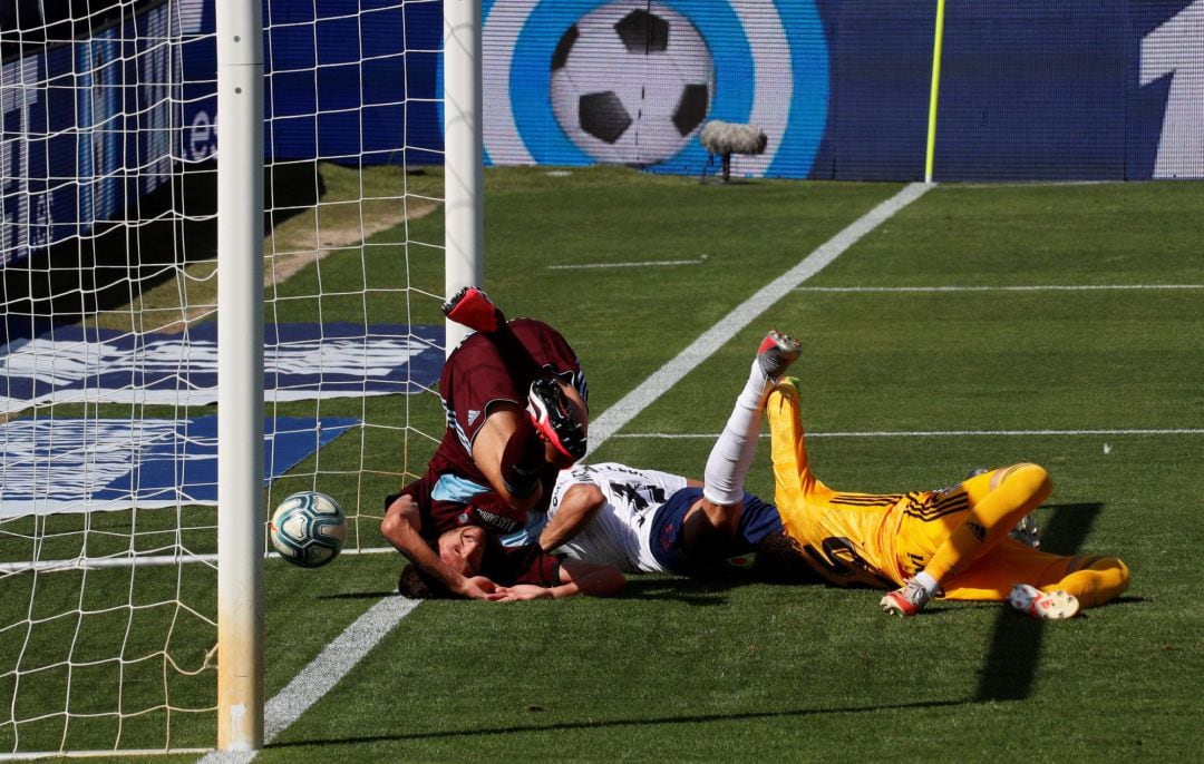
<svg viewBox="0 0 1204 764"><path fill-rule="evenodd" d="M337 194L342 172L324 172ZM586 366L598 414L897 190L701 185L614 168L568 177L494 170L486 173L486 288L509 315L562 328ZM795 373L807 391L805 424L816 433L813 464L828 484L936 487L979 466L1041 463L1056 486L1039 510L1046 547L1123 557L1134 584L1120 604L1051 624L997 605L945 603L896 621L878 611L880 594L872 591L725 587L665 576L636 579L612 600L425 603L259 760L1193 758L1204 744L1194 722L1204 680L1196 604L1204 575L1194 564L1204 541L1196 516L1204 499L1199 433L824 434L1198 430L1199 290L813 289L1198 285L1202 203L1198 183L938 186L803 290L765 306L751 326L595 454L596 461L698 475L751 349L766 328L778 327L804 342ZM408 225L411 239L442 242L439 214ZM362 256L336 251L301 271L272 292L278 300L268 320L364 320L367 306L370 321L437 321L441 260L415 248L405 259L391 244L405 238L384 231ZM563 267L644 261L695 262ZM313 297L319 282L334 296ZM411 290L411 315L399 315L405 308L396 296L364 296L365 284ZM270 413L315 408L289 403ZM320 410L377 426L362 439L337 439L294 474L320 468L319 488L358 521L356 540L378 546L379 497L396 487L400 473L425 464L430 436L441 431L437 399L430 392L329 401ZM407 413L414 431L396 428ZM128 414L126 407L110 415ZM365 474L358 470L361 449ZM766 449L749 487L768 498ZM306 482L288 478L272 496ZM120 513L96 519L123 521ZM24 553L12 539L0 541L6 559ZM317 571L270 561L268 697L389 591L400 567L391 555L348 555ZM187 575L193 571L209 575L199 565ZM66 578L73 575L39 576L39 596L78 599ZM129 571L88 576L96 588L87 591L88 602L126 600ZM175 586L150 576L147 597ZM28 608L28 586L22 588L5 580L0 622ZM212 640L211 632L175 634L194 658ZM23 635L0 638L0 656L16 659ZM147 640L157 641L158 634ZM37 645L66 652L70 636L47 632ZM78 679L72 693L87 692ZM48 680L23 677L20 703L61 707L63 689ZM212 699L202 683L189 680L179 692ZM26 695L29 685L43 688ZM0 680L0 701L11 693L12 680ZM211 717L172 724L173 744L212 745ZM93 725L72 721L75 747L105 745L98 741L112 730ZM163 745L154 724L146 727L144 740L123 736L123 745ZM23 727L20 747L54 748L59 736L61 719ZM11 727L0 728L0 751L11 747Z"/></svg>

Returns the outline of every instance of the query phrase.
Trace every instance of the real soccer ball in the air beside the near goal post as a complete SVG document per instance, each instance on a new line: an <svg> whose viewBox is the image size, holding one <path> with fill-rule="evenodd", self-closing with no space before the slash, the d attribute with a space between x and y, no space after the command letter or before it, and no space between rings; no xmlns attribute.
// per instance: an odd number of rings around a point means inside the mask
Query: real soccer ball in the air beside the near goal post
<svg viewBox="0 0 1204 764"><path fill-rule="evenodd" d="M343 551L347 516L325 493L300 491L277 505L268 532L281 557L302 568L320 568Z"/></svg>

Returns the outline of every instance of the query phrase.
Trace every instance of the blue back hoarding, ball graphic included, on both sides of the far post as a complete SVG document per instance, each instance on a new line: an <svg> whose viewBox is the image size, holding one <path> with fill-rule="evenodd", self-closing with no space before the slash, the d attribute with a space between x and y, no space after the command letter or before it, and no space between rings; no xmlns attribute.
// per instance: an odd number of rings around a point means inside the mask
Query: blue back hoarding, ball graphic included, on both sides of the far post
<svg viewBox="0 0 1204 764"><path fill-rule="evenodd" d="M268 153L441 161L441 4L344 10L265 5ZM696 173L720 119L767 134L740 174L919 179L934 18L936 0L483 0L485 161ZM943 42L937 179L1204 177L1204 0L951 4Z"/></svg>

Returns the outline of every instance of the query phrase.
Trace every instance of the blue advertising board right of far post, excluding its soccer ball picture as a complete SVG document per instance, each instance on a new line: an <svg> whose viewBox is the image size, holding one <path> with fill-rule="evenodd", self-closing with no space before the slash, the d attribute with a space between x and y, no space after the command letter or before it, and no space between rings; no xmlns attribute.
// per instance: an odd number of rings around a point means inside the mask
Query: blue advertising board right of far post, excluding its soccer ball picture
<svg viewBox="0 0 1204 764"><path fill-rule="evenodd" d="M549 61L604 5L484 0L492 162L597 160L555 118ZM923 178L934 1L625 5L667 7L701 32L714 64L707 118L767 132L766 155L740 164L749 174ZM1204 1L950 2L943 45L936 179L1204 177ZM695 136L648 168L695 173L706 161Z"/></svg>

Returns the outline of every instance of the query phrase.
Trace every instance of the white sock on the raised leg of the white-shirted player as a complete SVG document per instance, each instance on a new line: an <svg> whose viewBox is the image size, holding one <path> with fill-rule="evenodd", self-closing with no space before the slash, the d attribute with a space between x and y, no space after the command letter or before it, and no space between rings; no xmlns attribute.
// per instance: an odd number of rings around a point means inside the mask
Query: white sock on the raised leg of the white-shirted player
<svg viewBox="0 0 1204 764"><path fill-rule="evenodd" d="M713 504L731 505L744 498L744 476L752 466L756 442L761 436L761 407L766 378L754 360L744 390L736 398L736 407L719 440L710 449L703 470L702 494Z"/></svg>

